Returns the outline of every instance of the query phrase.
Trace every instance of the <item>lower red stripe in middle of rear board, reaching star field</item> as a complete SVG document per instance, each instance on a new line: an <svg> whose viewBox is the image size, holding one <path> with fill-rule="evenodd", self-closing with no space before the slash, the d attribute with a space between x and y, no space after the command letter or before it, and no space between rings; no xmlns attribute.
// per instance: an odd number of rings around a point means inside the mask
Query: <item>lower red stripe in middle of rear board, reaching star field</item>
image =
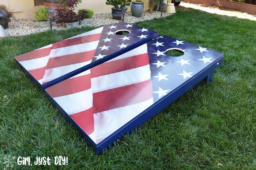
<svg viewBox="0 0 256 170"><path fill-rule="evenodd" d="M49 62L47 63L46 69L87 62L93 58L95 51L96 49L91 51L86 51L86 52L80 52L76 54L50 58Z"/></svg>

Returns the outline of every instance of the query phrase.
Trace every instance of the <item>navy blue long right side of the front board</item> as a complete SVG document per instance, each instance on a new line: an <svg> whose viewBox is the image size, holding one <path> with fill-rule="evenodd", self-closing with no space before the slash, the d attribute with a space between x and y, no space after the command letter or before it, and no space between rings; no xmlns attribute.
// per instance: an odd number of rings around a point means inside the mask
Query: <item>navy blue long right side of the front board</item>
<svg viewBox="0 0 256 170"><path fill-rule="evenodd" d="M105 149L109 149L111 146L113 146L114 142L117 141L120 137L122 137L125 134L130 134L131 131L135 128L140 127L144 122L152 118L154 115L156 115L158 112L162 111L165 107L167 107L169 104L174 102L174 100L178 99L181 95L183 95L185 92L187 92L189 89L191 89L193 86L195 86L200 81L207 78L207 76L211 76L212 72L221 66L223 61L223 56L219 57L217 60L212 62L208 67L204 68L200 72L198 72L196 75L194 75L191 79L184 82L180 86L178 86L176 89L174 89L169 94L165 95L163 98L155 102L153 105L148 107L146 110L141 112L138 116L130 120L128 123L126 123L124 126L122 126L120 129L115 131L112 135L105 138L102 142L98 143L96 145L96 151L98 154L101 154ZM218 64L217 64L218 63ZM95 146L94 146L95 148Z"/></svg>

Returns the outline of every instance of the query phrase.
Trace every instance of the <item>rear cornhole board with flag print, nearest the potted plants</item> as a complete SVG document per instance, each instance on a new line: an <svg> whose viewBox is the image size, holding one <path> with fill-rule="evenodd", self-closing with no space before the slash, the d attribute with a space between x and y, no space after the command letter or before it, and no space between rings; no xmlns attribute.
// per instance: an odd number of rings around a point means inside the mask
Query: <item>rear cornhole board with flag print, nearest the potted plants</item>
<svg viewBox="0 0 256 170"><path fill-rule="evenodd" d="M158 32L116 22L15 57L39 87L47 88L158 37Z"/></svg>

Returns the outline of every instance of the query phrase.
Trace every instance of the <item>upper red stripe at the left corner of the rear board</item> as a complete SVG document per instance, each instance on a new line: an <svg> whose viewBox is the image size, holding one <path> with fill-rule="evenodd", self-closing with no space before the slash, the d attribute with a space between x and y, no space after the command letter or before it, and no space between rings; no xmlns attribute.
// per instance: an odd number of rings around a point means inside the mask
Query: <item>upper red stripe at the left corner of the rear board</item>
<svg viewBox="0 0 256 170"><path fill-rule="evenodd" d="M30 52L27 52L25 54L16 56L15 59L18 62L22 62L22 61L26 61L26 60L31 60L31 59L37 59L37 58L45 57L45 56L48 56L50 54L50 50L51 49L52 49L52 47L48 47L48 48L43 48L43 49L38 49L38 50L30 51Z"/></svg>

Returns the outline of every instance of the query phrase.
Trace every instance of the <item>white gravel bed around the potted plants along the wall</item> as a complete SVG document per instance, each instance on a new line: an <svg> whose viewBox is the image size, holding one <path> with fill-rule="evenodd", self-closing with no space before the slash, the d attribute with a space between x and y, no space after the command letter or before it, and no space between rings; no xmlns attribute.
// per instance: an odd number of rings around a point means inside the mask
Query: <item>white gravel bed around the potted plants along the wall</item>
<svg viewBox="0 0 256 170"><path fill-rule="evenodd" d="M171 14L163 12L162 15L163 17L166 17ZM153 11L152 14L148 13L148 11L145 11L143 12L142 16L139 18L132 16L131 12L127 12L124 16L124 22L130 24L138 21L151 20L159 17L161 17L160 11ZM108 25L116 21L117 20L112 19L111 13L94 14L92 22L89 26ZM79 27L81 27L81 25ZM32 33L43 32L48 29L50 29L50 26L44 27L44 28L35 28L33 24L33 19L18 19L18 20L12 20L9 23L9 28L5 29L5 32L7 32L8 36L24 36ZM53 22L53 29L59 30L59 29L66 29L66 28L59 24L55 24Z"/></svg>

